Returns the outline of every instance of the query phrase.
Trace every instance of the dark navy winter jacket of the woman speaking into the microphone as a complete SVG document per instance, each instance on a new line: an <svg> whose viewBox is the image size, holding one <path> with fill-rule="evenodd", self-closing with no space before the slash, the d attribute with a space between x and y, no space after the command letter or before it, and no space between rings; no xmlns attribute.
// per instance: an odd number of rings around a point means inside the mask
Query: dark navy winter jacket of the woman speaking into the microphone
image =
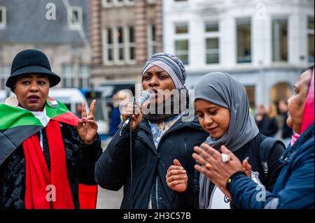
<svg viewBox="0 0 315 223"><path fill-rule="evenodd" d="M202 130L196 116L193 122L183 122L182 118L177 120L162 136L158 150L153 143L148 121L143 119L137 131L132 133L132 179L130 132L126 131L122 136L119 133L118 130L97 161L95 179L105 189L117 191L124 186L120 208L148 208L152 185L156 186L153 187L156 188L156 197L151 197L151 200L154 199L157 204L153 208L197 208L193 199L195 196L190 196L195 192L195 160L192 154L194 146L203 143L209 134ZM190 189L184 193L174 192L167 186L165 175L174 159L179 159L188 174ZM175 204L174 199L183 202Z"/></svg>

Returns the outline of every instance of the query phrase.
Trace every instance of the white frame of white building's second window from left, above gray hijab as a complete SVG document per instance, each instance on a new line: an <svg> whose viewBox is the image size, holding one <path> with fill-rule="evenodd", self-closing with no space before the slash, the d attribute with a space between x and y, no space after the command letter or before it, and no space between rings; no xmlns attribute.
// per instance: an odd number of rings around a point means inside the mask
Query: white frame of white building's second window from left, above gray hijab
<svg viewBox="0 0 315 223"><path fill-rule="evenodd" d="M206 31L206 24L218 24L218 31ZM210 52L213 54L213 52L211 52L212 50L208 50L207 49L207 39L208 38L218 38L218 63L216 64L207 64L207 54ZM207 20L204 22L204 64L206 66L217 66L221 64L221 59L220 59L220 49L221 49L221 40L220 40L220 24L218 22L218 20Z"/></svg>

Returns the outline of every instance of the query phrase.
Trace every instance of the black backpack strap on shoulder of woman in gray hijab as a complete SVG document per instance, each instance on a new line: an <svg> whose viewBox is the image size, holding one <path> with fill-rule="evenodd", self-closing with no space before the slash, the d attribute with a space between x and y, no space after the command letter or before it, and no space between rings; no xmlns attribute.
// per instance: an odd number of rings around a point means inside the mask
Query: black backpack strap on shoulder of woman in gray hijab
<svg viewBox="0 0 315 223"><path fill-rule="evenodd" d="M260 161L260 164L258 164L258 168L260 168L260 173L263 173L263 175L261 176L262 184L265 185L266 187L268 186L267 175L268 175L268 168L269 168L268 167L269 155L272 148L274 148L274 145L276 145L276 143L279 143L283 145L283 148L286 148L286 146L283 144L282 141L275 138L266 137L262 139L262 141L260 141L259 157L258 157L259 158L258 161Z"/></svg>

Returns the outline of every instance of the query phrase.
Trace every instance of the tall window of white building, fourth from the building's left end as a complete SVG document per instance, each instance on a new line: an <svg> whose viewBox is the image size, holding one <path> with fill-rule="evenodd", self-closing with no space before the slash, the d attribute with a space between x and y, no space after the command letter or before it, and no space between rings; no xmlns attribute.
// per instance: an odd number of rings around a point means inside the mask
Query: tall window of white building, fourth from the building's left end
<svg viewBox="0 0 315 223"><path fill-rule="evenodd" d="M272 20L272 61L288 61L288 20Z"/></svg>

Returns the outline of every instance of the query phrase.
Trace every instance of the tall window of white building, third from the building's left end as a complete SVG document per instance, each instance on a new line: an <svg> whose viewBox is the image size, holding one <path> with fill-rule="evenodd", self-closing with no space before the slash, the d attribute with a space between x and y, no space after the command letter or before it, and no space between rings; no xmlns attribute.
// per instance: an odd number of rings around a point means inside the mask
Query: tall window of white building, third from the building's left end
<svg viewBox="0 0 315 223"><path fill-rule="evenodd" d="M251 62L251 20L237 20L237 63Z"/></svg>

